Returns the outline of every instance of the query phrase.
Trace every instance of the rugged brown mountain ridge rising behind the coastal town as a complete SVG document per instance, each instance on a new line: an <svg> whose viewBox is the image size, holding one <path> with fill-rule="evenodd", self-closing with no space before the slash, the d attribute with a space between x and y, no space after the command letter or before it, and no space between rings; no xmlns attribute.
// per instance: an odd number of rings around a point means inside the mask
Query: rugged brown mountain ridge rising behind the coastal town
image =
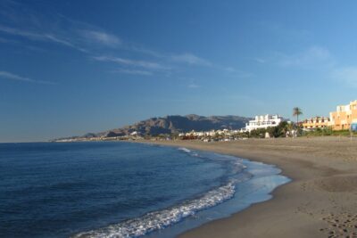
<svg viewBox="0 0 357 238"><path fill-rule="evenodd" d="M69 138L90 138L96 136L121 136L130 135L137 132L140 135L160 135L172 134L188 131L208 131L217 129L240 129L245 127L249 118L238 116L212 116L203 117L198 115L187 116L167 116L164 118L151 118L139 121L131 126L116 128L101 133L88 133L82 136L73 136ZM63 139L63 138L62 138Z"/></svg>

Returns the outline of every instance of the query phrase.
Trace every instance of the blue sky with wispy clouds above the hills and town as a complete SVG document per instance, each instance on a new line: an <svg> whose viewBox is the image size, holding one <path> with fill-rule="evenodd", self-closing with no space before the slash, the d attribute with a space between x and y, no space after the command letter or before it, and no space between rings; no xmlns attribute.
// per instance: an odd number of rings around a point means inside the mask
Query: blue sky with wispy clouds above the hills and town
<svg viewBox="0 0 357 238"><path fill-rule="evenodd" d="M0 1L0 142L357 99L356 1Z"/></svg>

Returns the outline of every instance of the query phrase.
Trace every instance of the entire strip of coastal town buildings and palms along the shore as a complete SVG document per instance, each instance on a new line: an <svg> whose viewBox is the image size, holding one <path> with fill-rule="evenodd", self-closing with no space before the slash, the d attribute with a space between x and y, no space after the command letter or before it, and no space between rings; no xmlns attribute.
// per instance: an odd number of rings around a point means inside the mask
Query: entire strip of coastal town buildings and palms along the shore
<svg viewBox="0 0 357 238"><path fill-rule="evenodd" d="M142 135L138 131L131 131L129 135L90 136L59 139L56 142L78 141L120 141L120 140L201 140L203 142L245 140L247 138L274 138L296 137L299 135L353 135L357 132L357 100L348 104L337 105L336 111L329 112L329 117L316 116L311 119L299 120L303 111L294 109L293 116L296 121L285 119L274 114L257 115L245 123L240 129L212 129L208 131L195 131L162 134Z"/></svg>

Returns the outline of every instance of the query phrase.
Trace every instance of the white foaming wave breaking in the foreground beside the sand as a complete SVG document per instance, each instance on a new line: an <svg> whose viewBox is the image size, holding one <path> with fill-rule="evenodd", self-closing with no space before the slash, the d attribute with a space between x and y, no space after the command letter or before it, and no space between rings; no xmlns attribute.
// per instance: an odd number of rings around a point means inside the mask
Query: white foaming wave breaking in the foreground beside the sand
<svg viewBox="0 0 357 238"><path fill-rule="evenodd" d="M185 217L194 215L197 211L208 209L231 199L236 192L233 182L204 193L203 196L185 201L169 209L149 212L143 217L132 218L116 225L76 234L75 238L121 238L138 237L178 223Z"/></svg>

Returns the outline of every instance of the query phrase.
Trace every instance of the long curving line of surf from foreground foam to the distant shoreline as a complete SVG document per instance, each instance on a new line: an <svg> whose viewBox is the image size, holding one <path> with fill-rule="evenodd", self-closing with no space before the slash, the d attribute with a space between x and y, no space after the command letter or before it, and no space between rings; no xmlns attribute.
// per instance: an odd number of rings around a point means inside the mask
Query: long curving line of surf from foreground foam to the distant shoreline
<svg viewBox="0 0 357 238"><path fill-rule="evenodd" d="M246 167L243 165L242 160L237 157L224 156L213 153L210 153L210 155L205 153L198 154L197 152L192 152L191 150L184 147L180 147L178 150L187 152L191 156L200 157L204 160L215 160L221 161L222 163L228 163L230 165L230 172L228 172L228 177L225 179L226 183L223 183L223 185L203 193L203 195L197 197L196 199L184 201L168 209L149 212L142 217L131 218L118 224L79 233L73 237L129 238L152 233L154 231L178 223L185 217L192 216L200 210L212 208L223 201L231 199L236 193L237 183L243 182L253 176L250 173L244 172ZM211 156L213 157L211 158Z"/></svg>

